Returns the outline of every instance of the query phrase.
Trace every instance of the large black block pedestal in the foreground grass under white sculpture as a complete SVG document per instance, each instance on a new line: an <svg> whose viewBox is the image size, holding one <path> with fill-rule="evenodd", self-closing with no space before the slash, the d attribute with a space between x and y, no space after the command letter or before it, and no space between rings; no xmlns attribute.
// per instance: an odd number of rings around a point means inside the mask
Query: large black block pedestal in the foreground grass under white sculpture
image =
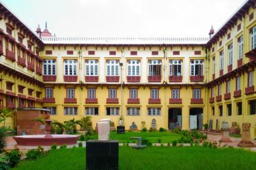
<svg viewBox="0 0 256 170"><path fill-rule="evenodd" d="M86 169L118 169L118 140L88 140Z"/></svg>

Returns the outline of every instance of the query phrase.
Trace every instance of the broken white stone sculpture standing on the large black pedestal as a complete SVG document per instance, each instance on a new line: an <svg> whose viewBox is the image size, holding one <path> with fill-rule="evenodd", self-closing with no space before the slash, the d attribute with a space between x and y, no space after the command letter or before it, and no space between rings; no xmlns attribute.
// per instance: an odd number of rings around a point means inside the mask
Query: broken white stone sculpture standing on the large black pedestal
<svg viewBox="0 0 256 170"><path fill-rule="evenodd" d="M98 140L108 141L110 135L110 118L104 118L98 121Z"/></svg>

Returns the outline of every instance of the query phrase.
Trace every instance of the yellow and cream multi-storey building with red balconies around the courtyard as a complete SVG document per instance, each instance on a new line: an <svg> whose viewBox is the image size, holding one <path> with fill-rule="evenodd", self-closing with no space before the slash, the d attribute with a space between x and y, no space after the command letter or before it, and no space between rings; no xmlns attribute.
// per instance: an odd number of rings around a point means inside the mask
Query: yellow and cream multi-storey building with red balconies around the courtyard
<svg viewBox="0 0 256 170"><path fill-rule="evenodd" d="M58 121L89 115L93 126L123 116L126 129L250 122L256 136L254 1L210 39L55 37L1 6L0 107L46 107Z"/></svg>

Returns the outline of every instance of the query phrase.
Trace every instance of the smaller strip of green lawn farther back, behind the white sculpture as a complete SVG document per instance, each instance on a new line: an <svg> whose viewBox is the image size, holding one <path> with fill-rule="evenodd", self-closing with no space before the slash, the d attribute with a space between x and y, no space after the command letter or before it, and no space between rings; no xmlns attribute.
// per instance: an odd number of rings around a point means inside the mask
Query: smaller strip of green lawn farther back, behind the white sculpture
<svg viewBox="0 0 256 170"><path fill-rule="evenodd" d="M91 136L93 139L98 139L97 135ZM174 134L172 132L125 132L125 134L116 134L116 132L110 132L110 139L118 140L119 143L135 143L137 140L130 139L130 137L141 137L147 138L152 143L158 143L158 140L161 140L161 143L171 143L173 140L178 140L181 135Z"/></svg>

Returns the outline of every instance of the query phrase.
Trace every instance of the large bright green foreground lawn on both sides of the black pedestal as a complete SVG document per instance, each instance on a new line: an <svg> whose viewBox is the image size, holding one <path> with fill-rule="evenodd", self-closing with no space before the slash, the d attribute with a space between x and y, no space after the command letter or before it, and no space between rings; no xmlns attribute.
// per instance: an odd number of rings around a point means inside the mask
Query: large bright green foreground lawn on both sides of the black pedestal
<svg viewBox="0 0 256 170"><path fill-rule="evenodd" d="M135 150L119 147L119 169L256 169L256 153L243 149L201 146L151 146ZM15 169L85 169L85 148L57 149L35 161L21 161Z"/></svg>

